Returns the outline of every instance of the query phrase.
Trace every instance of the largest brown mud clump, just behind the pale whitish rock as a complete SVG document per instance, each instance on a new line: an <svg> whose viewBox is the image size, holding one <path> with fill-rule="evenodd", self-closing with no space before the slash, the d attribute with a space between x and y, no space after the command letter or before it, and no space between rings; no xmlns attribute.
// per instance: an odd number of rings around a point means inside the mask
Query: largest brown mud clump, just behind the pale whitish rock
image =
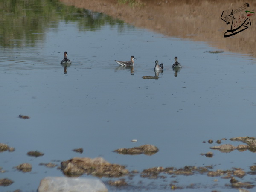
<svg viewBox="0 0 256 192"><path fill-rule="evenodd" d="M94 159L74 157L61 162L61 170L70 177L77 177L83 174L96 175L98 177L121 177L129 173L125 166L111 164L101 157Z"/></svg>

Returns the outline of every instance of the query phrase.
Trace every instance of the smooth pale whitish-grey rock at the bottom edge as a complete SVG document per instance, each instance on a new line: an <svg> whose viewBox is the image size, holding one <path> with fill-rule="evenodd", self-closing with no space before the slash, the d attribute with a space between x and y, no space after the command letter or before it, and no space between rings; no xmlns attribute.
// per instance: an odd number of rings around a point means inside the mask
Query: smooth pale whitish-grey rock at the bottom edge
<svg viewBox="0 0 256 192"><path fill-rule="evenodd" d="M41 180L38 192L108 192L99 179L46 177Z"/></svg>

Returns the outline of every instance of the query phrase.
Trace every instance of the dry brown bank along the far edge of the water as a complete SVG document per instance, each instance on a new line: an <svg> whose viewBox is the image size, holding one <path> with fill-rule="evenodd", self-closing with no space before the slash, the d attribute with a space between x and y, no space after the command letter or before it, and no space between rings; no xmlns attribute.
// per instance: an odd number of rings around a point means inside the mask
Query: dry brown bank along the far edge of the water
<svg viewBox="0 0 256 192"><path fill-rule="evenodd" d="M250 16L251 26L232 37L223 35L230 29L221 20L221 13L244 5L241 0L60 0L67 5L111 15L136 27L146 28L167 36L205 41L224 51L250 54L256 58L256 13ZM256 2L248 2L256 9Z"/></svg>

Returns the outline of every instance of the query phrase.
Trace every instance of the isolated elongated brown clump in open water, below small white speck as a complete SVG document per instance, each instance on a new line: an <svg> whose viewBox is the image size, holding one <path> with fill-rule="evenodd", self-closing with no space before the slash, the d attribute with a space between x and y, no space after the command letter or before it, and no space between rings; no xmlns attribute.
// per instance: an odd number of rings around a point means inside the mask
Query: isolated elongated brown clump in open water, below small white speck
<svg viewBox="0 0 256 192"><path fill-rule="evenodd" d="M141 145L139 147L134 147L134 148L120 148L115 150L114 152L119 154L130 154L130 155L137 155L137 154L153 155L158 151L159 149L154 145Z"/></svg>

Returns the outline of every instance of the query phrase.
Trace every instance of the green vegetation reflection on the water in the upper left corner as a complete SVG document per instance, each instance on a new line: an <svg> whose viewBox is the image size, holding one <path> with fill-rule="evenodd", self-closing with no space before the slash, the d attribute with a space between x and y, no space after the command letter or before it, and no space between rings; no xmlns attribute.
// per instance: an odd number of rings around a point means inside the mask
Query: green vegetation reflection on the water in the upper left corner
<svg viewBox="0 0 256 192"><path fill-rule="evenodd" d="M65 6L58 0L0 0L0 45L3 47L35 46L46 30L57 29L58 22L77 22L79 30L96 30L108 24L124 22L102 13ZM132 26L130 26L132 27Z"/></svg>

